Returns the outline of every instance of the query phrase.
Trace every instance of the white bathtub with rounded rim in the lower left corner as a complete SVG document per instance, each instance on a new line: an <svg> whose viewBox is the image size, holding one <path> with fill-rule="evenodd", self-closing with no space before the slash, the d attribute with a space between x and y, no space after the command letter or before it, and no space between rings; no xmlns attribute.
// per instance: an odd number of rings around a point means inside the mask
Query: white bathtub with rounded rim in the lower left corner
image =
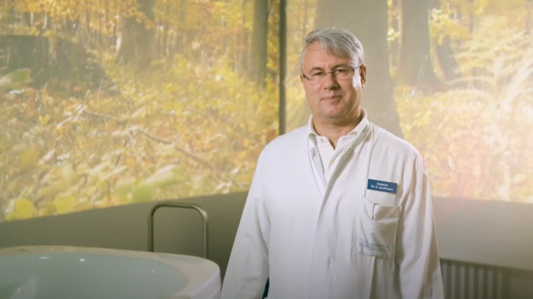
<svg viewBox="0 0 533 299"><path fill-rule="evenodd" d="M0 249L1 299L219 299L203 258L71 246Z"/></svg>

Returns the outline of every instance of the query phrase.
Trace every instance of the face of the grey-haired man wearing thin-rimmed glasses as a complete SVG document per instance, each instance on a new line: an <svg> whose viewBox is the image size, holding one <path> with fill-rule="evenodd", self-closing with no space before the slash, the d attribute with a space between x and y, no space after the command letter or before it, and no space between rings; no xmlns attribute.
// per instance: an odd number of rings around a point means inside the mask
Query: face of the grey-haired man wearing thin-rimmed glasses
<svg viewBox="0 0 533 299"><path fill-rule="evenodd" d="M305 76L336 69L347 70L353 76L349 80L339 80L334 74L327 74L322 83L315 84L300 75L314 118L328 123L343 123L358 116L366 69L363 66L352 71L352 68L358 67L356 63L349 57L329 55L320 43L309 46L302 61Z"/></svg>

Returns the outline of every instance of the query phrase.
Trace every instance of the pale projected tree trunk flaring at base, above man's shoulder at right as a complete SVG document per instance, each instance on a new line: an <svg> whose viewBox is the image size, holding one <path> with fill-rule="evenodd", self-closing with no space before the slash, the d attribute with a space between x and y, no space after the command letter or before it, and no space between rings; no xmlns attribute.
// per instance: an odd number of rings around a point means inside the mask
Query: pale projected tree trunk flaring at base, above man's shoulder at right
<svg viewBox="0 0 533 299"><path fill-rule="evenodd" d="M428 0L401 0L400 6L402 28L396 82L426 92L443 90L431 63Z"/></svg>

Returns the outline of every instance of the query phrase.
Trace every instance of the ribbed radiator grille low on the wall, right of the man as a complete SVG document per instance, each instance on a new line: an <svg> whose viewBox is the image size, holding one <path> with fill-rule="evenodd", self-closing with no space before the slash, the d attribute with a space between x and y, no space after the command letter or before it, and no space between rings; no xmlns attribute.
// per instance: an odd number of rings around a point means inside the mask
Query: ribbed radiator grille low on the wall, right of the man
<svg viewBox="0 0 533 299"><path fill-rule="evenodd" d="M509 299L508 271L501 267L440 260L446 299Z"/></svg>

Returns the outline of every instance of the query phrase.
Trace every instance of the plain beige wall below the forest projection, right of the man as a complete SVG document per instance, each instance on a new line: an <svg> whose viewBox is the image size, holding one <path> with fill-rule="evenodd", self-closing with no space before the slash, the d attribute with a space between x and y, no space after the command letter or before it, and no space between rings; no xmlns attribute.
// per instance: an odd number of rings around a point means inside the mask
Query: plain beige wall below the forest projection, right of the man
<svg viewBox="0 0 533 299"><path fill-rule="evenodd" d="M533 271L533 204L434 198L433 210L443 258Z"/></svg>

